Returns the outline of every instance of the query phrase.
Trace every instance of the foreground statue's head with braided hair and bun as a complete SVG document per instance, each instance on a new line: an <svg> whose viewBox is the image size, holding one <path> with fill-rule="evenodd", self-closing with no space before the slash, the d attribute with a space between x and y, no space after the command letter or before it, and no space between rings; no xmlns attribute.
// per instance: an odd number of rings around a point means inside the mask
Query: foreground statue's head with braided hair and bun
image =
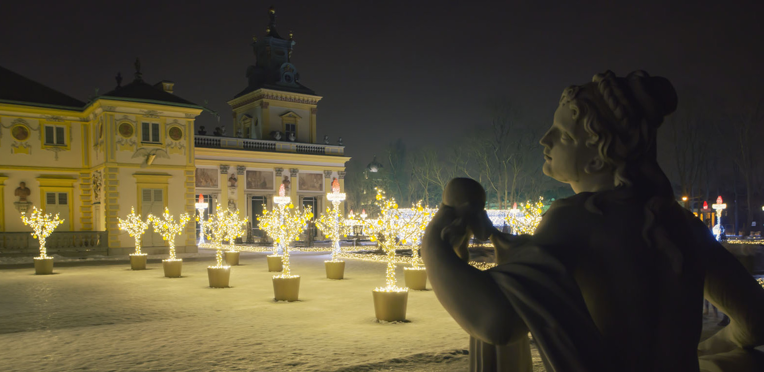
<svg viewBox="0 0 764 372"><path fill-rule="evenodd" d="M657 167L657 129L676 105L671 82L644 71L626 77L607 71L569 86L539 141L544 173L570 183L575 192L639 183L646 163Z"/></svg>

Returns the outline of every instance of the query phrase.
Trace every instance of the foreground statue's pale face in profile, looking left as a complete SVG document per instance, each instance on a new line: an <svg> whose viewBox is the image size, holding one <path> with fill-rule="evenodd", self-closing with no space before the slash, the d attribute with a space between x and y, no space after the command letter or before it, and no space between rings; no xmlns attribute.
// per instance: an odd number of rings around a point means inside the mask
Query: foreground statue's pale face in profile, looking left
<svg viewBox="0 0 764 372"><path fill-rule="evenodd" d="M544 174L562 183L583 181L582 178L588 176L584 167L598 156L595 147L586 145L588 138L584 126L573 120L570 106L559 105L552 127L539 141L544 146Z"/></svg>

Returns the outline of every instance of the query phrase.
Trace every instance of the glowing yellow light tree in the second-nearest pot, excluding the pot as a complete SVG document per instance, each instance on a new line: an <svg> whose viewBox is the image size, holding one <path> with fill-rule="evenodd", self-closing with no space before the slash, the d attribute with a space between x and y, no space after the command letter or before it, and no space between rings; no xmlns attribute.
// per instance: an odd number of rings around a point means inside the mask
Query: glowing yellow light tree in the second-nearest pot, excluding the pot
<svg viewBox="0 0 764 372"><path fill-rule="evenodd" d="M260 221L260 228L270 238L274 239L274 255L283 251L281 258L283 269L281 274L275 275L274 278L297 277L297 275L292 275L290 271L289 244L299 238L299 235L306 228L306 222L313 217L313 214L310 211L299 212L292 204L292 199L289 196L284 196L283 184L279 188L279 196L274 196L274 204L276 205L273 210L263 209L263 215L257 217L257 221Z"/></svg>

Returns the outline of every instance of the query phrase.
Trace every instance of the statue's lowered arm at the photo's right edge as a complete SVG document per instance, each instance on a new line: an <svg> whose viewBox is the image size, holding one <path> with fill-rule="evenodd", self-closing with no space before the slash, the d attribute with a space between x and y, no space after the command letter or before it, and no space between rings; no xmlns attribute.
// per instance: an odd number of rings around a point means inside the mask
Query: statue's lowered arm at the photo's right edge
<svg viewBox="0 0 764 372"><path fill-rule="evenodd" d="M730 324L698 345L701 354L764 345L764 289L721 244L709 249L704 297L730 317Z"/></svg>

